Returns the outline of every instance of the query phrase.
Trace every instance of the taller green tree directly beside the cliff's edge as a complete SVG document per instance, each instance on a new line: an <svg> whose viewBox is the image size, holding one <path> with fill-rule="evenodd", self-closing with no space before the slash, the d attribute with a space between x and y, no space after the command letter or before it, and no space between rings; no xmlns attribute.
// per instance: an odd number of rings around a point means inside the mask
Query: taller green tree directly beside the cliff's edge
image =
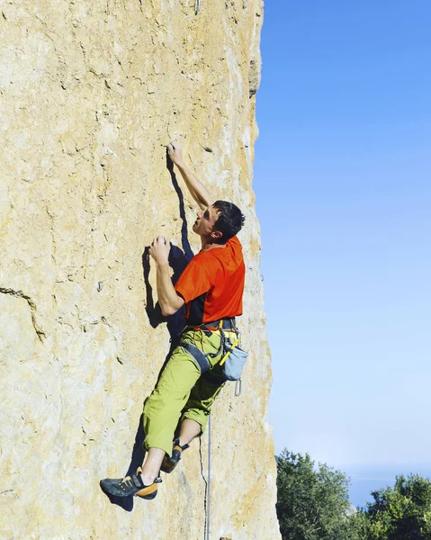
<svg viewBox="0 0 431 540"><path fill-rule="evenodd" d="M283 540L364 540L348 536L356 532L349 533L348 481L343 473L286 449L277 459L277 472Z"/></svg>

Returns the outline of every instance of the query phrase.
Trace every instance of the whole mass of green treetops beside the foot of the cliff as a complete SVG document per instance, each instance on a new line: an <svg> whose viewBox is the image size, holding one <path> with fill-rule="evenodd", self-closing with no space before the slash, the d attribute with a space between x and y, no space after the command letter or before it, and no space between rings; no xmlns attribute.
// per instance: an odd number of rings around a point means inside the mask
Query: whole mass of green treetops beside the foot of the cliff
<svg viewBox="0 0 431 540"><path fill-rule="evenodd" d="M348 480L310 455L277 459L277 516L283 540L431 540L431 481L399 476L393 488L349 515Z"/></svg>

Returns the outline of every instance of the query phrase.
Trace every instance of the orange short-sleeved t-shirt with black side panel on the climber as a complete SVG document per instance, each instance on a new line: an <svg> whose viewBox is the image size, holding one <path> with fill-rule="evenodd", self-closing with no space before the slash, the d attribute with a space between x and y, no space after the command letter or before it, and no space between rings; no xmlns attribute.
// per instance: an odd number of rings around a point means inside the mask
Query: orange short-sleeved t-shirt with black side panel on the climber
<svg viewBox="0 0 431 540"><path fill-rule="evenodd" d="M199 325L242 314L246 266L237 237L225 247L201 251L185 267L175 284L184 298L185 319Z"/></svg>

